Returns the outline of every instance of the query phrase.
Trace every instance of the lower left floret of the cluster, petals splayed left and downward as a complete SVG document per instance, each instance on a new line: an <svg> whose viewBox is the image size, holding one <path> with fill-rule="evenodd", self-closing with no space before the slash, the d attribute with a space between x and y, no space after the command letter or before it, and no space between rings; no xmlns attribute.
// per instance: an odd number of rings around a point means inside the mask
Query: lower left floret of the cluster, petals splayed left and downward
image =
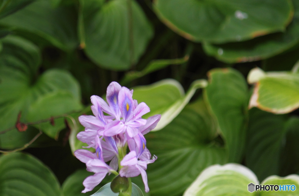
<svg viewBox="0 0 299 196"><path fill-rule="evenodd" d="M89 176L83 181L85 189L82 191L82 193L86 193L94 189L94 187L103 180L108 172L117 173L114 169L109 167L103 159L100 138L96 137L95 140L96 153L91 153L88 150L82 149L76 150L74 152L77 159L79 159L83 163L86 163L87 171L95 173L93 176Z"/></svg>

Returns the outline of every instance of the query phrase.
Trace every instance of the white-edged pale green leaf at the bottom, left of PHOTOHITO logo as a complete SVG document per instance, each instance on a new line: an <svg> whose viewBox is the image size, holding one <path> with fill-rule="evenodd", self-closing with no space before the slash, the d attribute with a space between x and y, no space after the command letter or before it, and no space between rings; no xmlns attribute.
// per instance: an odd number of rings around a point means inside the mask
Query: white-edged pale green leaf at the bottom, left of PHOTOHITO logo
<svg viewBox="0 0 299 196"><path fill-rule="evenodd" d="M258 192L248 191L250 183L258 185L259 181L245 166L235 163L213 165L202 171L183 196L258 195Z"/></svg>

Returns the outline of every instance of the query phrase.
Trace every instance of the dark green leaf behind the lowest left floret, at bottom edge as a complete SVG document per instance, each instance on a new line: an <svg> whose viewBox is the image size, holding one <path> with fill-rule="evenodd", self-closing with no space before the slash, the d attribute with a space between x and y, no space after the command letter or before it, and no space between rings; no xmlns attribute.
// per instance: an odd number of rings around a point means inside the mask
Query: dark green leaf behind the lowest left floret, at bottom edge
<svg viewBox="0 0 299 196"><path fill-rule="evenodd" d="M102 182L94 187L94 189L87 193L81 193L84 190L83 181L86 177L93 175L94 173L86 171L86 169L80 169L71 174L62 184L62 193L64 196L86 196L95 193L101 186L110 182L114 177L113 174L106 176Z"/></svg>

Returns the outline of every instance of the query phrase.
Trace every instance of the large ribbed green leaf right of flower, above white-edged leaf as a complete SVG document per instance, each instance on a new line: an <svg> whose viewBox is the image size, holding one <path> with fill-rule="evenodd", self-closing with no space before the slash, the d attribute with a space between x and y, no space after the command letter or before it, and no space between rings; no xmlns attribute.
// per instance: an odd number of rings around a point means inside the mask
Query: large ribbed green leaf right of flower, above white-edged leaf
<svg viewBox="0 0 299 196"><path fill-rule="evenodd" d="M150 195L181 195L207 166L227 162L225 149L210 139L214 125L205 118L194 105L186 106L161 131L145 135L147 148L158 157L147 166Z"/></svg>

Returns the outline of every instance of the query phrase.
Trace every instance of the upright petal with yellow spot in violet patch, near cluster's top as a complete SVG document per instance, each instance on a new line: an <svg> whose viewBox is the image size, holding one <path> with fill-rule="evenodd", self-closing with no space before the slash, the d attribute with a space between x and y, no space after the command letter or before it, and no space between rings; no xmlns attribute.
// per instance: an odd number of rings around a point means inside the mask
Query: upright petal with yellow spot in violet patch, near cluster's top
<svg viewBox="0 0 299 196"><path fill-rule="evenodd" d="M133 99L130 90L122 87L118 93L118 106L123 120L130 120L133 117Z"/></svg>

